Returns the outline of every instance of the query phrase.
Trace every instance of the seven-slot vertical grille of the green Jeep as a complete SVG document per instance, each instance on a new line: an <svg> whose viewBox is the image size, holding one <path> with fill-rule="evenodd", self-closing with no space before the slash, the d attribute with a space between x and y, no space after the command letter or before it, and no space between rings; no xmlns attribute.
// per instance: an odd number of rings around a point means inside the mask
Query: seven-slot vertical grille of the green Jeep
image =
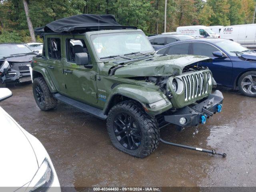
<svg viewBox="0 0 256 192"><path fill-rule="evenodd" d="M204 71L186 74L181 77L185 87L185 101L207 94L209 76L209 72Z"/></svg>

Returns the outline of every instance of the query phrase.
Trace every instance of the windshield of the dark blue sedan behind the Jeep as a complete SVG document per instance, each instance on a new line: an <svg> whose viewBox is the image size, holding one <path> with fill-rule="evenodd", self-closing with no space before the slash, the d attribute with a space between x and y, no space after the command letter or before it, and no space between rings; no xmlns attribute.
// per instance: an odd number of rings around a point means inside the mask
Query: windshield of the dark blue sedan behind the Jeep
<svg viewBox="0 0 256 192"><path fill-rule="evenodd" d="M225 52L227 52L230 56L236 56L234 52L245 52L250 51L248 48L243 47L239 43L230 40L219 41L215 43L217 46L222 48Z"/></svg>

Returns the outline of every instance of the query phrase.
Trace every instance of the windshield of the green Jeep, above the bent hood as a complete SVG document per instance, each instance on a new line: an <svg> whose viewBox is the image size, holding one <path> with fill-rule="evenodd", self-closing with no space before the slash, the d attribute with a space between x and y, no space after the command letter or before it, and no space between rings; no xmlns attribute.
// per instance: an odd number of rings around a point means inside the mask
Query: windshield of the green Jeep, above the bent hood
<svg viewBox="0 0 256 192"><path fill-rule="evenodd" d="M91 40L99 58L132 52L154 52L143 32L95 34L91 36Z"/></svg>

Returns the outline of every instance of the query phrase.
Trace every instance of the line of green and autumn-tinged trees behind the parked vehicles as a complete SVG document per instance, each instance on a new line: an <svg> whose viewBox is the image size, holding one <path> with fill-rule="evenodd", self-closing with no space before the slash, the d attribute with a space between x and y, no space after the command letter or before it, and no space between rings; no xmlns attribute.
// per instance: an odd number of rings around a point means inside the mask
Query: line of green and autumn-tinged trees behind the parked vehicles
<svg viewBox="0 0 256 192"><path fill-rule="evenodd" d="M167 0L166 31L186 25L250 24L255 4L256 0ZM114 14L122 25L160 34L164 5L165 0L0 0L0 42L29 42L29 22L36 28L76 14Z"/></svg>

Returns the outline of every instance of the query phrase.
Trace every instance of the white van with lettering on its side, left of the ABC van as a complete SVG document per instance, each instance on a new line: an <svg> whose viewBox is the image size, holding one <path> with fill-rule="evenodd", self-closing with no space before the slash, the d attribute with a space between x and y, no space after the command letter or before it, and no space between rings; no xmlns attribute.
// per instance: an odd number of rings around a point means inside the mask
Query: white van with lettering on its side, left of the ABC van
<svg viewBox="0 0 256 192"><path fill-rule="evenodd" d="M177 27L177 34L191 35L195 38L218 38L219 35L214 33L210 28L203 25Z"/></svg>

